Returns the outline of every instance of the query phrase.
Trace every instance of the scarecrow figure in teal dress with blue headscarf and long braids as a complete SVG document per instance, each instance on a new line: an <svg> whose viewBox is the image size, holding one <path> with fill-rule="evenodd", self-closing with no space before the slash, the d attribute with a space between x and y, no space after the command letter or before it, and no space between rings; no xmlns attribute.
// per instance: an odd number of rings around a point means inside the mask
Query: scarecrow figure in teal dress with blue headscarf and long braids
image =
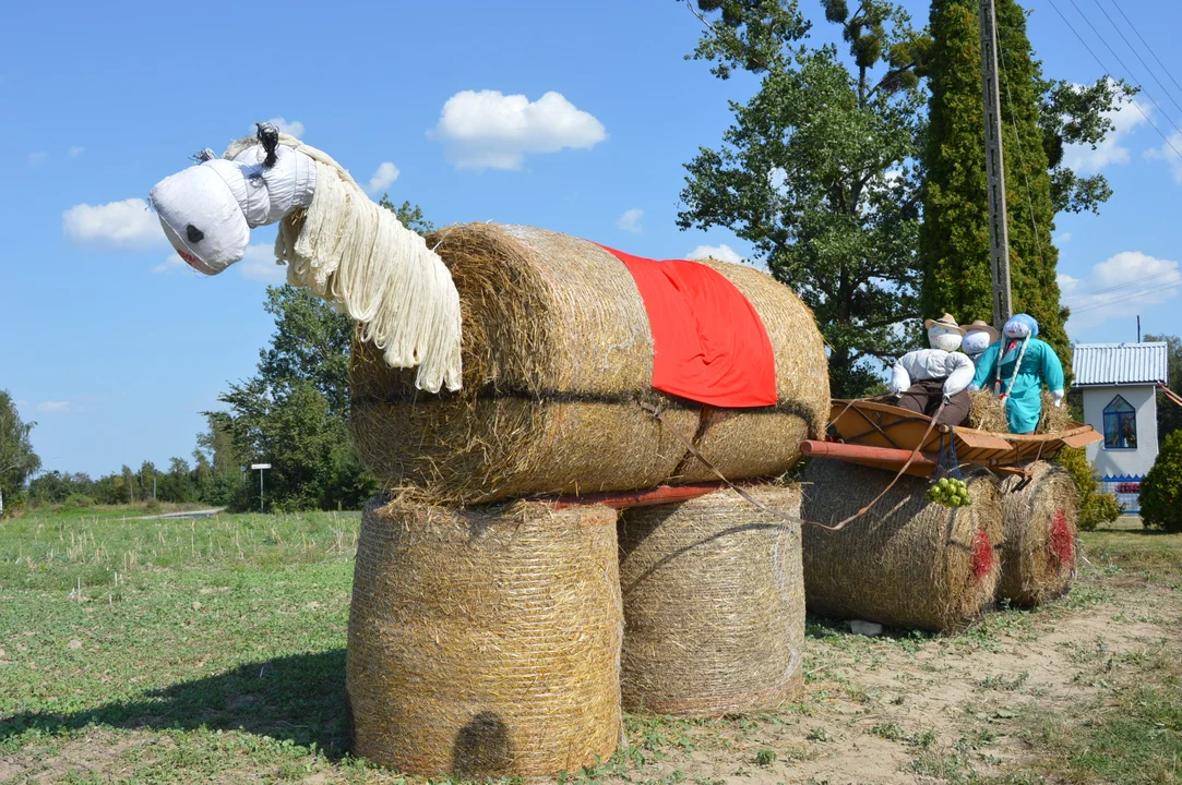
<svg viewBox="0 0 1182 785"><path fill-rule="evenodd" d="M1038 340L1038 322L1018 314L1001 328L1002 338L985 351L976 364L970 390L993 384L1006 401L1011 433L1032 433L1043 413L1043 385L1063 405L1063 364L1050 344Z"/></svg>

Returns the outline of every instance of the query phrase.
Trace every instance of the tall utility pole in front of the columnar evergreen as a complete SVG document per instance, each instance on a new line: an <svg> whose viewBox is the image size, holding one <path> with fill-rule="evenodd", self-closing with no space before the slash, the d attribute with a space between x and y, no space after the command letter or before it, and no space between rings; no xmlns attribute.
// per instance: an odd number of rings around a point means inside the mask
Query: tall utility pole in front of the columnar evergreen
<svg viewBox="0 0 1182 785"><path fill-rule="evenodd" d="M981 87L985 98L985 171L989 195L989 259L993 263L993 326L1013 315L1009 295L1009 229L1006 224L1006 168L1001 155L1001 91L998 85L998 33L993 0L981 6Z"/></svg>

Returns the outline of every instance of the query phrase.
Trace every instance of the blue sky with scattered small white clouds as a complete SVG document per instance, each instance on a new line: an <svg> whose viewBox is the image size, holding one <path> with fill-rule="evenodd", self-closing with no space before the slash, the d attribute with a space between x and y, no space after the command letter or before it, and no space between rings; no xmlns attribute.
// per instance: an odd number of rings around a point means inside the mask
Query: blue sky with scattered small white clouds
<svg viewBox="0 0 1182 785"><path fill-rule="evenodd" d="M1145 332L1182 335L1170 272L1182 259L1182 161L1150 126L1177 133L1182 150L1182 89L1160 70L1168 90L1158 86L1124 47L1096 5L1123 25L1112 0L1053 2L1125 76L1079 9L1087 14L1160 104L1139 97L1144 115L1123 110L1116 139L1072 153L1116 191L1099 217L1058 221L1064 296L1090 307L1069 325L1072 338L1135 340L1138 313ZM1027 5L1048 76L1104 73L1052 0ZM907 6L927 20L927 4ZM1182 81L1182 4L1121 7ZM832 37L819 0L801 8L819 22L814 39ZM745 255L725 230L674 224L683 164L719 143L727 100L753 89L683 60L699 30L674 0L9 8L0 28L0 388L37 420L46 469L97 476L188 457L200 412L253 373L273 326L264 287L281 280L266 259L273 234L255 230L261 250L206 279L178 266L155 216L126 201L254 120L284 118L359 182L388 184L436 224L526 223L656 257L700 246ZM560 98L543 102L550 92ZM515 130L505 131L505 117ZM456 140L461 122L475 137Z"/></svg>

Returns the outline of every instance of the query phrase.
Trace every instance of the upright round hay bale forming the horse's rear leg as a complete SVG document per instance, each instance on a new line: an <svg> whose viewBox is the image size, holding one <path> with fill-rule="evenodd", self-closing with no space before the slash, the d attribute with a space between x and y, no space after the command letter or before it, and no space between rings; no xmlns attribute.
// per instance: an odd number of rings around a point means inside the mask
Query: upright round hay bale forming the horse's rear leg
<svg viewBox="0 0 1182 785"><path fill-rule="evenodd" d="M800 513L797 486L746 490L782 515ZM799 696L799 525L725 490L624 511L619 552L625 709L717 717Z"/></svg>

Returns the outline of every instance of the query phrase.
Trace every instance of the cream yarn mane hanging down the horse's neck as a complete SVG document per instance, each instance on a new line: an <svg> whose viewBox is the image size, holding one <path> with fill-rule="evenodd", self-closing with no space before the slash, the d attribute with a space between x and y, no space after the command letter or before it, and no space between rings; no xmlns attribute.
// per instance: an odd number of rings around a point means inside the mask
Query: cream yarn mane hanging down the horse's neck
<svg viewBox="0 0 1182 785"><path fill-rule="evenodd" d="M279 143L316 162L312 204L279 222L275 257L287 263L287 282L357 320L390 367L417 366L420 390L459 390L460 295L443 260L329 155L286 133ZM239 139L223 157L255 144Z"/></svg>

